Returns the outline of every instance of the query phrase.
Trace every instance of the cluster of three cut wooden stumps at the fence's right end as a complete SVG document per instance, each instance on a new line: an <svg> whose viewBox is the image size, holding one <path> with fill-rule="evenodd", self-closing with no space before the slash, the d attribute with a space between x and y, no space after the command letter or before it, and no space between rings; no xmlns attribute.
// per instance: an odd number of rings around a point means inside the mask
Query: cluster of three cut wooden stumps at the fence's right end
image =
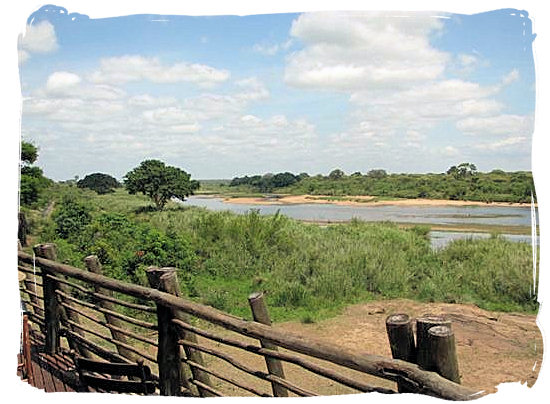
<svg viewBox="0 0 550 404"><path fill-rule="evenodd" d="M416 363L424 370L460 383L450 320L437 315L424 315L412 320L407 314L392 314L386 318L386 331L394 359ZM398 389L402 393L411 391L406 382L399 382Z"/></svg>

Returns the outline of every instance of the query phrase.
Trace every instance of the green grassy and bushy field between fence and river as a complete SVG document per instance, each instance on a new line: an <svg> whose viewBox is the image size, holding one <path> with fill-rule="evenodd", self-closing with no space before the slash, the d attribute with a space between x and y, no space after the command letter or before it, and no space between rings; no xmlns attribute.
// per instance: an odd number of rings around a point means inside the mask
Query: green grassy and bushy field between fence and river
<svg viewBox="0 0 550 404"><path fill-rule="evenodd" d="M82 267L96 254L108 275L140 284L147 266L174 266L184 295L243 317L250 317L248 294L258 290L267 292L275 321L311 322L392 298L537 309L531 246L497 235L434 251L428 226L322 227L176 203L156 211L124 190L99 196L60 185L47 199L55 200L53 213L31 215L33 242L55 242L64 262Z"/></svg>

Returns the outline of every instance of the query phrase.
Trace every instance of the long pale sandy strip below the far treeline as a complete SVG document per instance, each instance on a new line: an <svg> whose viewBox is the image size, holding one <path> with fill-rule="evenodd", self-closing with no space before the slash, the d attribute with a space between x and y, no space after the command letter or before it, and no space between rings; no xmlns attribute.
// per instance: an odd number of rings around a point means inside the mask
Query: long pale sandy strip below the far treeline
<svg viewBox="0 0 550 404"><path fill-rule="evenodd" d="M480 202L448 199L404 199L382 198L370 195L330 196L330 195L274 195L263 197L226 197L224 195L209 195L223 198L226 203L251 205L303 205L331 204L341 206L502 206L530 208L530 203L514 202ZM537 204L535 204L537 206Z"/></svg>

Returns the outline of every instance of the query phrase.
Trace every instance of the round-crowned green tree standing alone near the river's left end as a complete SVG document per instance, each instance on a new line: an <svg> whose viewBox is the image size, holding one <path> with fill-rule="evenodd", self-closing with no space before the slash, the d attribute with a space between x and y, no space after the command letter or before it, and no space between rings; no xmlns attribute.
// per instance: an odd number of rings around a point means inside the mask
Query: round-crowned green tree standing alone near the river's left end
<svg viewBox="0 0 550 404"><path fill-rule="evenodd" d="M185 171L165 165L160 160L145 160L124 176L124 186L130 194L141 192L149 196L162 210L170 198L185 200L200 186Z"/></svg>

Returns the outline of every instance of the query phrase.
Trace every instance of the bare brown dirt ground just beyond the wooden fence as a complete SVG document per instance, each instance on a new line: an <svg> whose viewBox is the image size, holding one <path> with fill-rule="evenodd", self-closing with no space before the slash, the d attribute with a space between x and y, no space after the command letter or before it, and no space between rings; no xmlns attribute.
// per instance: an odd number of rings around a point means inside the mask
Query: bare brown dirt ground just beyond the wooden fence
<svg viewBox="0 0 550 404"><path fill-rule="evenodd" d="M366 353L391 356L385 331L385 319L394 313L407 313L411 318L424 314L444 315L452 321L462 384L478 391L495 392L505 382L522 382L532 386L542 362L542 335L536 325L536 316L515 313L489 312L473 305L418 303L410 300L377 301L348 307L341 315L314 324L285 322L274 327L315 338L331 345L361 350ZM219 331L218 331L219 332ZM233 335L235 336L235 335ZM252 341L252 340L250 340ZM205 345L220 348L206 340ZM263 359L234 348L224 352L255 369L263 369ZM316 361L316 360L315 360ZM219 359L209 358L209 366L221 370L237 380L271 392L267 382L243 375ZM394 389L395 383L342 369L336 365L316 361L339 369L350 377L381 387ZM284 364L285 376L295 384L322 395L346 394L356 391L312 375L292 364ZM215 379L214 379L215 380ZM228 395L248 395L246 392L216 383Z"/></svg>

